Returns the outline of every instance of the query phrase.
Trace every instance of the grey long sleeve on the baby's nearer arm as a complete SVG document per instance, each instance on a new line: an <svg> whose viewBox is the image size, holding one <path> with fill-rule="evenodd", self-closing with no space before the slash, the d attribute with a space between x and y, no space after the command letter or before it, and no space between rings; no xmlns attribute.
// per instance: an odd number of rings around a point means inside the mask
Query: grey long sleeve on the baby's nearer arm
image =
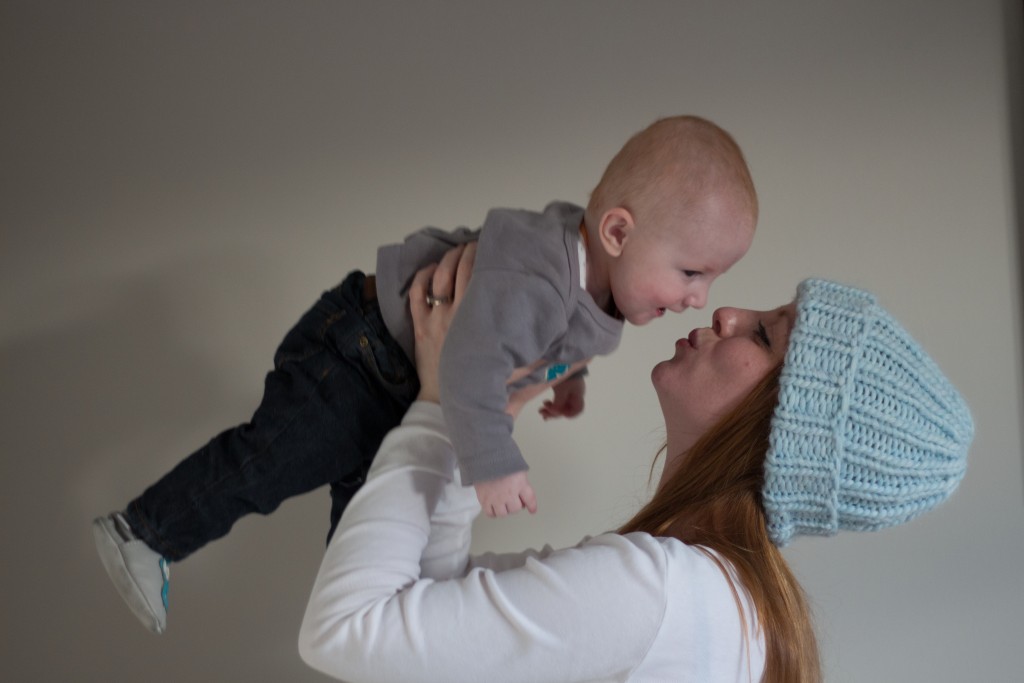
<svg viewBox="0 0 1024 683"><path fill-rule="evenodd" d="M527 469L512 439L507 382L568 328L558 289L535 273L477 268L444 340L440 399L466 484Z"/></svg>

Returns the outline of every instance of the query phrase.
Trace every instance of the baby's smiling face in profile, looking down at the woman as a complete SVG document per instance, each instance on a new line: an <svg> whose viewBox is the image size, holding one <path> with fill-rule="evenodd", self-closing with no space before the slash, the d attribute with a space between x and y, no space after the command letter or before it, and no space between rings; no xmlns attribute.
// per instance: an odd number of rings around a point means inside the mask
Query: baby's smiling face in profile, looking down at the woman
<svg viewBox="0 0 1024 683"><path fill-rule="evenodd" d="M745 207L714 197L702 204L684 219L638 223L611 260L611 296L629 323L702 308L711 284L750 249L754 217Z"/></svg>

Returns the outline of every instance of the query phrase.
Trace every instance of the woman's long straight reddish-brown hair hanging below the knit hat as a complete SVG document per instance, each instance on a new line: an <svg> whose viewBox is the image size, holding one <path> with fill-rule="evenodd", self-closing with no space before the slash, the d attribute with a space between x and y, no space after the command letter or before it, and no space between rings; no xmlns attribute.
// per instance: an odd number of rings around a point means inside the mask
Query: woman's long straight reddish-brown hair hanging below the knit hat
<svg viewBox="0 0 1024 683"><path fill-rule="evenodd" d="M768 537L761 500L780 372L781 365L701 436L620 532L673 537L727 560L740 590L750 595L764 633L762 680L818 683L821 667L810 610L803 589ZM732 577L714 553L708 555L729 581L745 625Z"/></svg>

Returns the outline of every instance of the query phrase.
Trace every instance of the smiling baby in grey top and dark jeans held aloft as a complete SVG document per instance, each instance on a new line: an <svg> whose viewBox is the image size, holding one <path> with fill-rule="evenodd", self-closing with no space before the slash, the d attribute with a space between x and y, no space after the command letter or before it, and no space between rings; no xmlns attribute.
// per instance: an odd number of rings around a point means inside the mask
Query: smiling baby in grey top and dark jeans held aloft
<svg viewBox="0 0 1024 683"><path fill-rule="evenodd" d="M424 228L382 247L376 278L353 272L288 333L249 423L185 458L120 512L97 518L97 549L152 631L166 628L168 563L249 512L331 484L331 533L387 431L419 389L408 292L415 273L476 242L475 266L441 357L441 407L492 516L537 509L513 418L553 387L547 418L584 408L584 374L624 323L705 305L746 253L758 205L733 139L696 117L656 121L608 164L586 209L496 209L476 230ZM432 292L442 305L451 293Z"/></svg>

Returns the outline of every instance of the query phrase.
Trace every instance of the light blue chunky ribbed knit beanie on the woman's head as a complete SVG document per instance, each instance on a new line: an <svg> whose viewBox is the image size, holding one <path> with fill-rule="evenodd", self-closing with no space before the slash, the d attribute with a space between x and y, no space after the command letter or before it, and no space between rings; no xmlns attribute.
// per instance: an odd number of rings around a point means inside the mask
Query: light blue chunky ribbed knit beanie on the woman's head
<svg viewBox="0 0 1024 683"><path fill-rule="evenodd" d="M873 296L800 284L765 458L775 545L931 510L964 478L973 436L956 389Z"/></svg>

